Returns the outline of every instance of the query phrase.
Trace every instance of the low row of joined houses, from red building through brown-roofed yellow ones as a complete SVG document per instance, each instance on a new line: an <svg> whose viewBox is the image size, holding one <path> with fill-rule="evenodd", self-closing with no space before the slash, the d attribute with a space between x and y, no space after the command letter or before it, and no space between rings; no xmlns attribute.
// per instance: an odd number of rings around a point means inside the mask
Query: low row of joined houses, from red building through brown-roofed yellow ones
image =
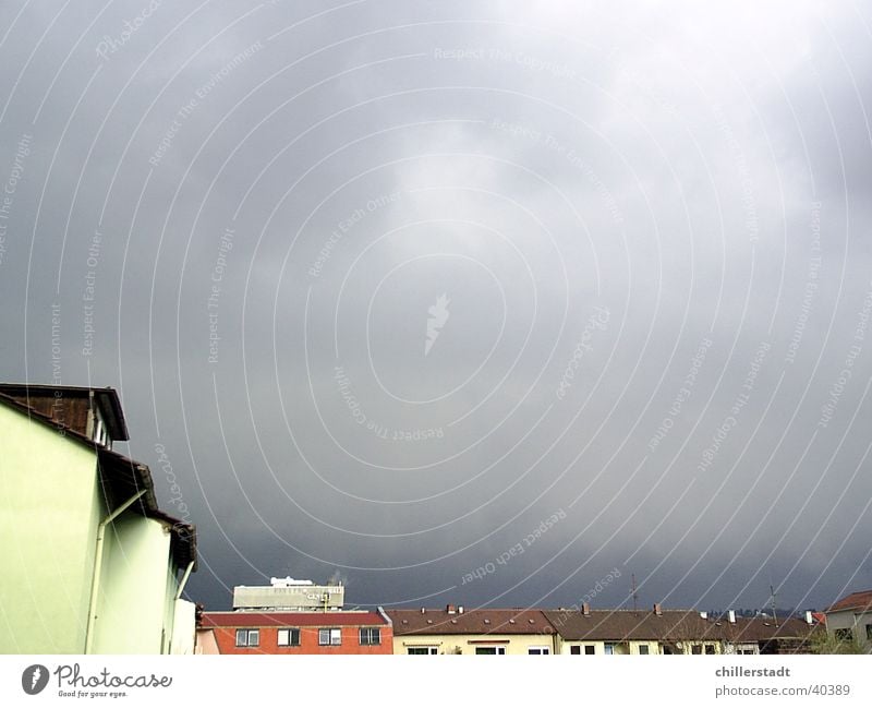
<svg viewBox="0 0 872 708"><path fill-rule="evenodd" d="M693 610L261 607L202 612L198 653L765 655L811 651L822 617L708 617Z"/></svg>

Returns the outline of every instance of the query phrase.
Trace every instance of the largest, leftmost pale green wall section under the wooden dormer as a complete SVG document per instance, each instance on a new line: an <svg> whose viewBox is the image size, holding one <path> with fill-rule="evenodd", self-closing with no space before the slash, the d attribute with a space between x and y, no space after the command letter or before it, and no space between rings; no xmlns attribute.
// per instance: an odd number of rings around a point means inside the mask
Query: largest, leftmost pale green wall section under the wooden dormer
<svg viewBox="0 0 872 708"><path fill-rule="evenodd" d="M0 405L0 652L81 653L104 509L97 455Z"/></svg>

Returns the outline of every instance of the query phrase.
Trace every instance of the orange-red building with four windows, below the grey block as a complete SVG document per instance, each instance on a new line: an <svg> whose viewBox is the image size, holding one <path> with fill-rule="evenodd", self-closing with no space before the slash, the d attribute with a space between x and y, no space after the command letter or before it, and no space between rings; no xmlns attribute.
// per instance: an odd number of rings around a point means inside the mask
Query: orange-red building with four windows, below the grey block
<svg viewBox="0 0 872 708"><path fill-rule="evenodd" d="M204 612L197 653L393 653L379 608L337 612Z"/></svg>

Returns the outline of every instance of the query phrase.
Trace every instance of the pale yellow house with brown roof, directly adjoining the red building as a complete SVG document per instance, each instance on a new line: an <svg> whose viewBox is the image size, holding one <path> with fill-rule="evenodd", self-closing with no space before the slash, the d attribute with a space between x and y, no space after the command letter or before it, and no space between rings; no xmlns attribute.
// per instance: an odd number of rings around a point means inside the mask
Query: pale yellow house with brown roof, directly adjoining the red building
<svg viewBox="0 0 872 708"><path fill-rule="evenodd" d="M395 655L553 655L557 635L541 610L387 610Z"/></svg>

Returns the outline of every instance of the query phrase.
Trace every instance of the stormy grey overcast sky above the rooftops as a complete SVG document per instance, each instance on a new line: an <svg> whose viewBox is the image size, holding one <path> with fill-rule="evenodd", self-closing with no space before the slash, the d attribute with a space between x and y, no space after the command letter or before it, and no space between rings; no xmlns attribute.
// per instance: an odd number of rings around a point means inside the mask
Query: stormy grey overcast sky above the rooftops
<svg viewBox="0 0 872 708"><path fill-rule="evenodd" d="M872 8L760 4L4 2L0 379L210 609L872 587Z"/></svg>

